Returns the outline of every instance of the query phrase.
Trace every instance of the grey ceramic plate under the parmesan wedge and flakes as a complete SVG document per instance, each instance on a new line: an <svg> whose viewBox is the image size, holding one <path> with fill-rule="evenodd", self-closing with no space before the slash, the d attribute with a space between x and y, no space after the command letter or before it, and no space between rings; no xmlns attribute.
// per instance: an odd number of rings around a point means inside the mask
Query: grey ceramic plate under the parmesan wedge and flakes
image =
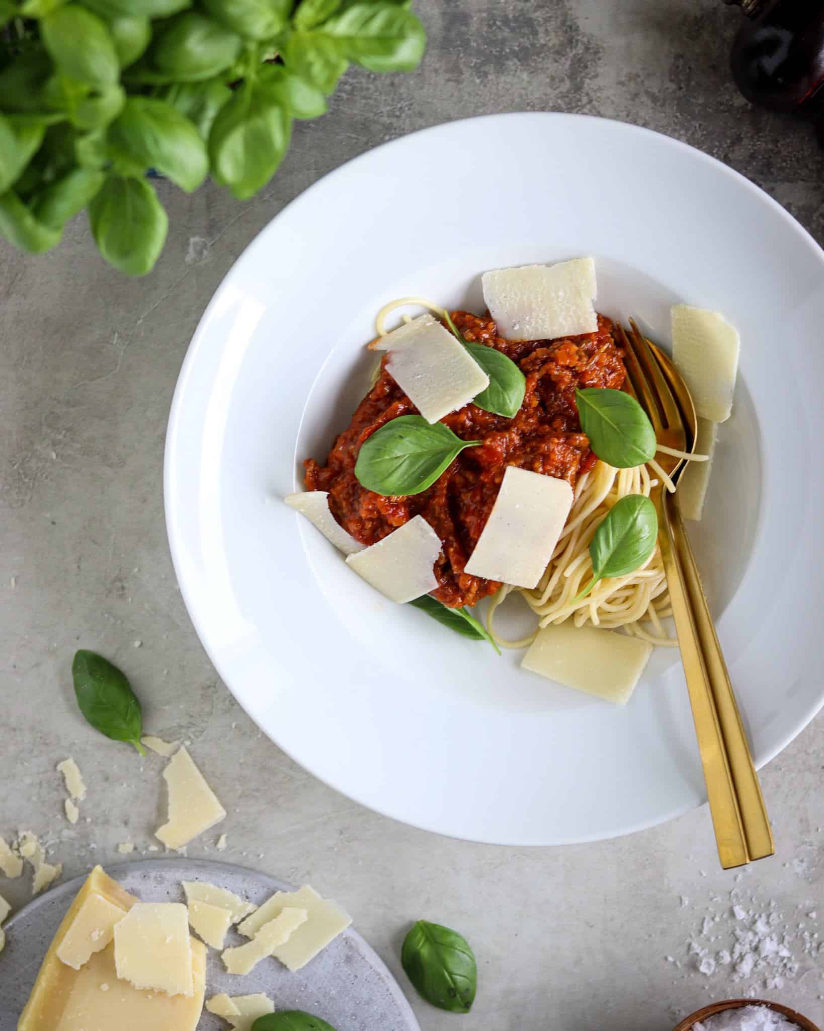
<svg viewBox="0 0 824 1031"><path fill-rule="evenodd" d="M139 860L106 870L144 902L185 901L181 880L208 880L249 901L264 902L291 886L255 870L206 860ZM6 947L0 957L0 1031L14 1031L40 962L58 925L85 877L77 877L34 899L3 927ZM227 944L246 938L230 931ZM337 1031L419 1031L398 983L367 942L349 928L308 963L289 973L276 960L265 960L245 977L224 969L209 950L206 997L217 992L249 995L265 992L275 1009L305 1009L322 1017ZM198 1031L227 1031L229 1025L204 1010Z"/></svg>

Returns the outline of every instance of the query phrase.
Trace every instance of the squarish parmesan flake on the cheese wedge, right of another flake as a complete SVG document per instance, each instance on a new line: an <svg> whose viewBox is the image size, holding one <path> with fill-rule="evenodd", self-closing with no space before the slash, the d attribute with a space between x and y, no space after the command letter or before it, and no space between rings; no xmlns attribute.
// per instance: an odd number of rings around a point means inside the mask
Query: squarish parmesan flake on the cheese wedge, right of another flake
<svg viewBox="0 0 824 1031"><path fill-rule="evenodd" d="M114 962L121 980L137 989L192 995L192 938L180 902L135 902L114 925Z"/></svg>

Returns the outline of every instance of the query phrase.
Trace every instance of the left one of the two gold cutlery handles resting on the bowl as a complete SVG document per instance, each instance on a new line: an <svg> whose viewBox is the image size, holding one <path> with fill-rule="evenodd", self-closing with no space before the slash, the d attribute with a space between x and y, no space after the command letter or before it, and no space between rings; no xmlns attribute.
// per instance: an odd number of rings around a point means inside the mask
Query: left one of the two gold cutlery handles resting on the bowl
<svg viewBox="0 0 824 1031"><path fill-rule="evenodd" d="M710 674L705 663L698 632L692 614L690 596L682 573L670 523L670 504L656 492L656 508L660 527L661 548L666 585L673 605L673 618L681 648L681 659L687 679L698 752L703 766L710 813L713 818L718 856L721 866L729 869L750 861L742 814L735 795L732 772L727 762L724 738L713 698Z"/></svg>

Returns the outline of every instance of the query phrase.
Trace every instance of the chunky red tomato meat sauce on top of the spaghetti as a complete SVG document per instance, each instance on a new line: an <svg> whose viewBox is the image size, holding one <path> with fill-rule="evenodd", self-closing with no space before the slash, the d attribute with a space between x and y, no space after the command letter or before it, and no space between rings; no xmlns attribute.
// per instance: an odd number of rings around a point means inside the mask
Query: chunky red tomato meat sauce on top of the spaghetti
<svg viewBox="0 0 824 1031"><path fill-rule="evenodd" d="M468 311L452 313L465 339L495 347L511 358L526 377L523 404L514 419L494 415L475 404L465 405L442 422L464 440L483 440L467 447L428 490L409 497L383 497L366 490L354 475L364 441L398 415L417 408L385 369L357 406L349 426L338 435L319 465L308 459L306 487L329 491L335 519L363 544L374 544L415 516L422 516L443 541L435 564L438 589L433 597L450 607L474 605L501 586L464 572L492 509L508 465L565 479L574 489L579 474L595 456L581 432L576 388L611 387L624 381L621 352L612 323L598 315L595 333L559 340L505 340L494 322Z"/></svg>

